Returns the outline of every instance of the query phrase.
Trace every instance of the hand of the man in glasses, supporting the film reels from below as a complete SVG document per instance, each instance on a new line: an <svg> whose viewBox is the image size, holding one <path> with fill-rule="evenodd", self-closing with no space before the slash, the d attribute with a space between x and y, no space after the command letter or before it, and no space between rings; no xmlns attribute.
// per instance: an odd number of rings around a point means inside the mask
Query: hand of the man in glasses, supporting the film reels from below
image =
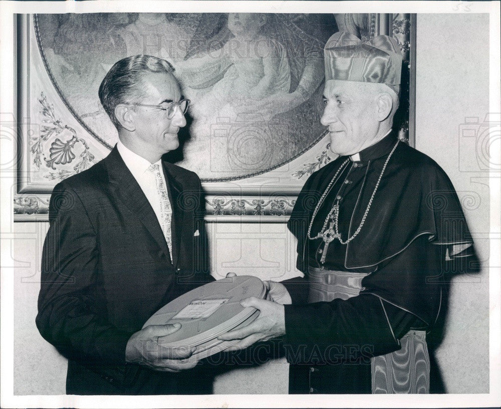
<svg viewBox="0 0 501 409"><path fill-rule="evenodd" d="M185 362L195 351L195 348L167 348L162 346L162 337L170 335L181 328L181 324L148 325L146 328L132 334L125 349L127 362L139 363L150 369L179 372L191 369L195 362Z"/></svg>

